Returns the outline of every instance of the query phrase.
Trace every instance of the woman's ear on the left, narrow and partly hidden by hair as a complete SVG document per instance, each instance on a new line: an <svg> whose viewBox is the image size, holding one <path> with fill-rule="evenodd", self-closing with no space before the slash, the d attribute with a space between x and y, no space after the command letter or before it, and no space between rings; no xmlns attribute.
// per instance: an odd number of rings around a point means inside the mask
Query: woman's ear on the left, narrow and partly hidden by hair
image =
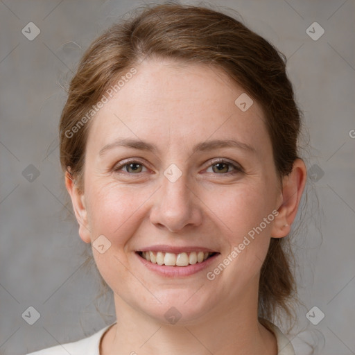
<svg viewBox="0 0 355 355"><path fill-rule="evenodd" d="M85 241L85 243L90 243L90 231L89 224L87 220L87 209L85 206L84 193L79 193L76 187L76 182L73 180L72 175L67 171L65 173L65 186L71 197L71 202L73 203L73 210L76 216L76 220L79 224L79 235L80 238Z"/></svg>

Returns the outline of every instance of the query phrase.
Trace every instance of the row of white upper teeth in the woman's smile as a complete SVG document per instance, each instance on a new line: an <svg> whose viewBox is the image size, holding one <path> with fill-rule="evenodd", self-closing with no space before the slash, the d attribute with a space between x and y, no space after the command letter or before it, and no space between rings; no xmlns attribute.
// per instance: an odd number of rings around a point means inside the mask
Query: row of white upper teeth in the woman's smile
<svg viewBox="0 0 355 355"><path fill-rule="evenodd" d="M195 263L202 263L212 252L180 252L173 254L172 252L141 252L141 256L151 263L166 266L188 266Z"/></svg>

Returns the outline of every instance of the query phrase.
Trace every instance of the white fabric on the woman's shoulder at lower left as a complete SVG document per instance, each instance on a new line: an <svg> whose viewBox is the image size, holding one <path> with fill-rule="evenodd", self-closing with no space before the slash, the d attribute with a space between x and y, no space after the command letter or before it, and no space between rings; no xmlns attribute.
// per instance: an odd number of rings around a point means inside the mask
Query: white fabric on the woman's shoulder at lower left
<svg viewBox="0 0 355 355"><path fill-rule="evenodd" d="M73 343L55 345L53 347L48 347L37 352L31 352L26 355L100 355L99 347L101 338L105 331L112 325L113 324L110 324L107 327L97 331L95 334L92 334L92 336L83 338Z"/></svg>

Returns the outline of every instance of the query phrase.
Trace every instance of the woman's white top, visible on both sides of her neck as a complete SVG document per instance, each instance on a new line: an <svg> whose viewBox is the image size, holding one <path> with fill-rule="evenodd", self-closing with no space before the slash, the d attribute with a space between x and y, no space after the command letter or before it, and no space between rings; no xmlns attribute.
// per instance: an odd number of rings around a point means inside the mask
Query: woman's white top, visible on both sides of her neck
<svg viewBox="0 0 355 355"><path fill-rule="evenodd" d="M99 349L101 338L103 338L105 331L107 331L115 323L116 322L99 330L92 336L76 342L55 345L54 347L48 347L38 352L31 352L31 354L26 355L100 355ZM282 331L275 324L272 324L271 322L268 322L268 324L270 324L270 328L275 334L277 340L277 355L295 355L295 350L293 349L290 340L284 336Z"/></svg>

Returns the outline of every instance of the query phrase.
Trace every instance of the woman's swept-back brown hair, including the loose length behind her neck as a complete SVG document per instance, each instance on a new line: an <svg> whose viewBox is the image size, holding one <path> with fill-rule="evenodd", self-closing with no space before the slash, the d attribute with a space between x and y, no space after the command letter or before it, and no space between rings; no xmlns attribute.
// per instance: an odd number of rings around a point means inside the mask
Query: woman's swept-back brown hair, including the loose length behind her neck
<svg viewBox="0 0 355 355"><path fill-rule="evenodd" d="M71 80L60 119L60 162L83 190L85 143L89 122L67 137L68 130L98 102L105 90L147 56L222 69L256 100L266 117L279 181L297 159L300 110L286 75L286 59L263 37L240 21L209 8L166 3L145 6L123 24L114 24L84 53ZM259 282L259 319L291 318L297 300L293 254L288 238L271 239Z"/></svg>

